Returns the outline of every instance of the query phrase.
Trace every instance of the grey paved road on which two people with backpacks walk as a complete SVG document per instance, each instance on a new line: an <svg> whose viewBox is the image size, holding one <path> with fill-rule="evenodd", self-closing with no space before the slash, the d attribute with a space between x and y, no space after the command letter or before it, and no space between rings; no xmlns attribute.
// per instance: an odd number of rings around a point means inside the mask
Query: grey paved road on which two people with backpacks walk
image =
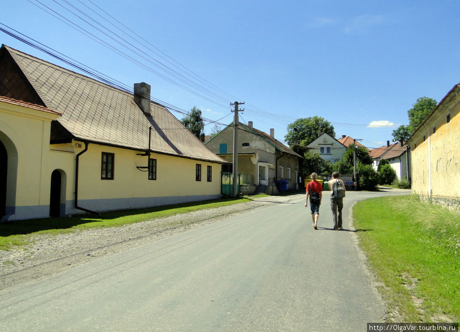
<svg viewBox="0 0 460 332"><path fill-rule="evenodd" d="M343 231L304 196L0 291L0 330L364 331L385 307Z"/></svg>

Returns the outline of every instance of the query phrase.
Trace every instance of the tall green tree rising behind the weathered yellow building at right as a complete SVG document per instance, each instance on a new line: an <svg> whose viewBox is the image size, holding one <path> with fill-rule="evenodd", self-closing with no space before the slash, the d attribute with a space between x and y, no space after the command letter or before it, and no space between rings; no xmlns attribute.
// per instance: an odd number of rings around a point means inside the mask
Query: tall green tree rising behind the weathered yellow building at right
<svg viewBox="0 0 460 332"><path fill-rule="evenodd" d="M412 105L412 108L407 111L409 117L409 125L399 126L393 131L393 141L405 141L416 129L422 124L425 118L433 111L438 102L428 97L421 97Z"/></svg>

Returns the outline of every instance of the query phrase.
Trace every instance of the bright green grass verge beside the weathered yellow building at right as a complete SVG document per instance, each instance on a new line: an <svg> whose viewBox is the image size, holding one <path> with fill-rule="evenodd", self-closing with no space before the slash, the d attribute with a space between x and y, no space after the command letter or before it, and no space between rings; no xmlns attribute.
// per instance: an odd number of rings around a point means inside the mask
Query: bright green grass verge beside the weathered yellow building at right
<svg viewBox="0 0 460 332"><path fill-rule="evenodd" d="M460 214L416 196L358 202L359 243L402 322L458 322Z"/></svg>

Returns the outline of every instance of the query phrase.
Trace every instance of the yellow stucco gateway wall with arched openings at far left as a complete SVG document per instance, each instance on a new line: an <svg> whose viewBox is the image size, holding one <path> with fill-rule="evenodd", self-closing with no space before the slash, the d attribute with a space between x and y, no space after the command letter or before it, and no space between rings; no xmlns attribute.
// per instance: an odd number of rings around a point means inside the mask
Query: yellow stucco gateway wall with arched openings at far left
<svg viewBox="0 0 460 332"><path fill-rule="evenodd" d="M57 117L0 102L0 140L8 154L8 220L49 216L52 172L60 169L73 176L73 155L50 150L51 121Z"/></svg>

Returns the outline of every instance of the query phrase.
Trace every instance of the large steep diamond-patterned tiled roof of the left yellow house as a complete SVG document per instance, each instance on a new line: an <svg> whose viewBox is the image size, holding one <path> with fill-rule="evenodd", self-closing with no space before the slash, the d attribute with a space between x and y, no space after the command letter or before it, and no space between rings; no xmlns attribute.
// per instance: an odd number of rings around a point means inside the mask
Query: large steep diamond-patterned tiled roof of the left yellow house
<svg viewBox="0 0 460 332"><path fill-rule="evenodd" d="M200 160L225 162L188 131L163 105L145 115L133 94L4 46L46 107L76 139Z"/></svg>

